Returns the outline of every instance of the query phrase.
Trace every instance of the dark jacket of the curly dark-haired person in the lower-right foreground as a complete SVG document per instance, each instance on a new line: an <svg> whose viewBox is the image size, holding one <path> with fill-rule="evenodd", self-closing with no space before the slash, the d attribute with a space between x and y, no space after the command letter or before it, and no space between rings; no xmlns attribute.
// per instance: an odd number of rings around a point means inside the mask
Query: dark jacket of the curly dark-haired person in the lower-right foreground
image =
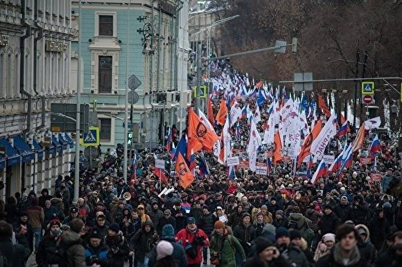
<svg viewBox="0 0 402 267"><path fill-rule="evenodd" d="M331 250L328 255L321 257L315 267L366 267L367 263L362 257L360 257L360 252L358 247L353 248L350 261L347 265L343 264L343 258L340 252L340 244L335 244L335 247Z"/></svg>

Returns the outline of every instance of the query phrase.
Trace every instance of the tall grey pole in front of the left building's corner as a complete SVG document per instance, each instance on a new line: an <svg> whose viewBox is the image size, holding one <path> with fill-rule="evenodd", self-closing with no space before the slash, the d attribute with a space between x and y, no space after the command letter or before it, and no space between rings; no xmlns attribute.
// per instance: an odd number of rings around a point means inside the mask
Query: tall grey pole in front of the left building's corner
<svg viewBox="0 0 402 267"><path fill-rule="evenodd" d="M74 199L78 202L80 190L80 113L81 113L81 0L78 2L78 66L77 66L77 107L76 107L76 160L74 164Z"/></svg>

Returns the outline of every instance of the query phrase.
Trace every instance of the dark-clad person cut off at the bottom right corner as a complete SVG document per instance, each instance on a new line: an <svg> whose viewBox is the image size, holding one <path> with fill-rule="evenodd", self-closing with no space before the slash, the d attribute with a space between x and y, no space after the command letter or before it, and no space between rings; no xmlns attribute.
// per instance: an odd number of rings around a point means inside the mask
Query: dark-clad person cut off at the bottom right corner
<svg viewBox="0 0 402 267"><path fill-rule="evenodd" d="M392 246L378 255L376 267L402 266L402 231L392 235Z"/></svg>

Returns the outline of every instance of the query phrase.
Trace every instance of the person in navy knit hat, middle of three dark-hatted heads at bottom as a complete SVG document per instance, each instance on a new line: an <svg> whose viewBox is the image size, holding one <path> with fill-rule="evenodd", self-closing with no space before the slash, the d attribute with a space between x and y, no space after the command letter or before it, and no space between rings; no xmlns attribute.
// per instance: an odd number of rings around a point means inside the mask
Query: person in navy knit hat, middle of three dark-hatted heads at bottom
<svg viewBox="0 0 402 267"><path fill-rule="evenodd" d="M290 243L290 234L286 228L277 229L277 234L275 235L277 239L276 246L281 252L281 255L287 259L292 266L297 267L308 267L310 263L308 262L304 252L297 246L293 246Z"/></svg>

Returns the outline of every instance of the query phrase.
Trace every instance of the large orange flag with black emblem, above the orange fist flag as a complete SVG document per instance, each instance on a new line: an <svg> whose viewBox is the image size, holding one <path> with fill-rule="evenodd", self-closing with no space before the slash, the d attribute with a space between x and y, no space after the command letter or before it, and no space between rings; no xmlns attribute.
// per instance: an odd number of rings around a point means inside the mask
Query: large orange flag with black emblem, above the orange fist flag
<svg viewBox="0 0 402 267"><path fill-rule="evenodd" d="M198 118L193 109L189 109L189 155L200 149L211 151L218 136L211 129L208 129ZM191 153L193 151L193 153Z"/></svg>

